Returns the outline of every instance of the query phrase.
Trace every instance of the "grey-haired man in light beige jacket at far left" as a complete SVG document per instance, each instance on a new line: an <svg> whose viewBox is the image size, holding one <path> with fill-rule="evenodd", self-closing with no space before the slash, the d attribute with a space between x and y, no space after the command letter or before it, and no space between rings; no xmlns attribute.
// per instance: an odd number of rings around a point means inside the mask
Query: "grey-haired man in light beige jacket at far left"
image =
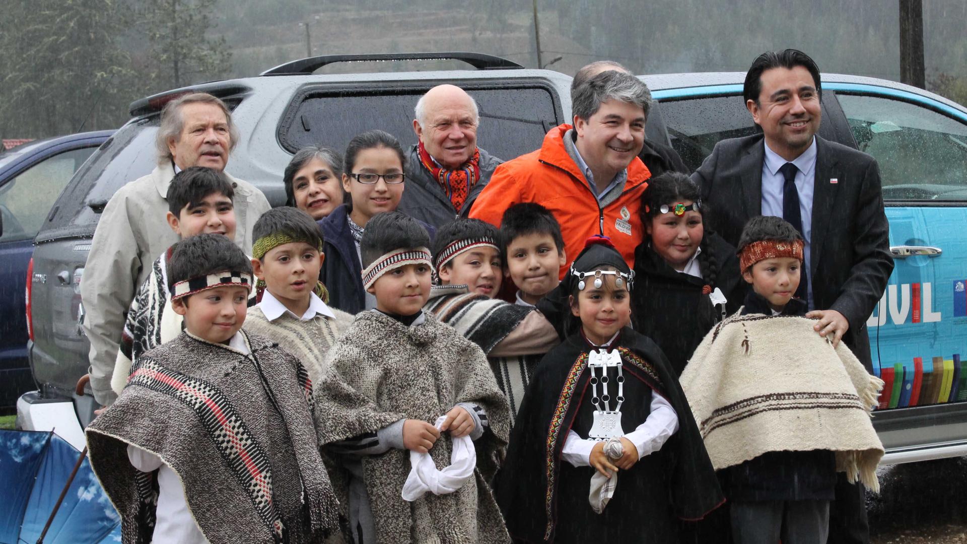
<svg viewBox="0 0 967 544"><path fill-rule="evenodd" d="M122 187L104 206L80 284L83 327L91 342L91 389L101 405L116 398L111 373L134 291L151 272L151 263L178 241L165 221L171 178L189 166L223 170L237 142L231 113L218 98L206 93L180 97L161 111L158 166ZM269 201L251 184L228 178L235 190L235 242L251 253L251 227L270 208Z"/></svg>

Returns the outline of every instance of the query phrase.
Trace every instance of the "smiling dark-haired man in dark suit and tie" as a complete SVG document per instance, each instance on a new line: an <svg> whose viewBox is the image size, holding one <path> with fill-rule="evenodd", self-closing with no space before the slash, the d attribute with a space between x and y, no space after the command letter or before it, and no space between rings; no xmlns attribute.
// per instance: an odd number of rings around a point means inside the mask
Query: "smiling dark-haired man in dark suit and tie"
<svg viewBox="0 0 967 544"><path fill-rule="evenodd" d="M773 215L800 230L806 263L797 296L815 329L853 350L872 371L865 321L894 268L876 161L816 135L819 69L796 49L752 63L744 98L762 134L719 141L692 174L714 210L711 226L732 245L749 218ZM869 541L864 490L843 474L830 507L829 542Z"/></svg>

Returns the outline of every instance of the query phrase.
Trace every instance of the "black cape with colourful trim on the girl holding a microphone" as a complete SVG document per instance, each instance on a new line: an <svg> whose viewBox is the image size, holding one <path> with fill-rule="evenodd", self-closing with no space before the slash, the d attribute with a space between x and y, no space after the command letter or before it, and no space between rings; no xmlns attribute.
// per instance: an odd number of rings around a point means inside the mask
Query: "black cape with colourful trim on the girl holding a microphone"
<svg viewBox="0 0 967 544"><path fill-rule="evenodd" d="M588 502L595 469L561 459L568 431L587 437L591 427L591 348L583 336L572 335L535 372L495 483L507 527L519 542L673 542L676 518L700 519L724 499L685 394L654 342L625 327L612 344L626 376L622 427L633 430L648 418L656 392L675 408L678 432L620 472L600 515Z"/></svg>

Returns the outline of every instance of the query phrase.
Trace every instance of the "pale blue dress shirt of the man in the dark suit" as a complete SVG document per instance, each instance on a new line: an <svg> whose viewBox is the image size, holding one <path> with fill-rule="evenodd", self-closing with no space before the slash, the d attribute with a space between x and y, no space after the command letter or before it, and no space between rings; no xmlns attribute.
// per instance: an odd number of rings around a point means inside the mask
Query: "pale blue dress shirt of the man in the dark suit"
<svg viewBox="0 0 967 544"><path fill-rule="evenodd" d="M805 247L803 257L806 257L806 270L812 258L809 248L812 246L812 194L816 177L816 136L812 136L812 143L802 155L793 161L786 161L763 143L766 148L765 160L762 162L762 215L782 217L782 187L785 177L779 168L786 163L796 165L796 191L799 193L799 214L803 219L803 238ZM807 275L806 304L812 310L812 275Z"/></svg>

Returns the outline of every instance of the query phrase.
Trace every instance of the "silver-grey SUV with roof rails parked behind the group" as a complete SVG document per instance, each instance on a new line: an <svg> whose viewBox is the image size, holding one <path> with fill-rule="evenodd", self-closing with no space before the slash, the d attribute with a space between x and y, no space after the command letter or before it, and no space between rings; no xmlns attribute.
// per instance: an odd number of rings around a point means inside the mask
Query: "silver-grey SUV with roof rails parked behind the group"
<svg viewBox="0 0 967 544"><path fill-rule="evenodd" d="M468 64L465 70L314 75L334 63L386 67L421 60ZM480 107L478 141L490 154L513 159L541 144L543 135L571 115L571 77L528 70L512 61L477 53L339 55L284 64L261 76L196 85L155 95L131 106L132 119L74 176L37 235L32 278L34 340L28 345L40 391L18 403L21 424L30 409L61 400L77 403L83 423L93 399L73 394L88 367L88 342L78 326L83 308L77 286L91 237L107 200L125 183L155 166L154 138L161 107L190 91L220 97L232 108L241 138L227 171L262 190L273 205L284 203L281 174L300 147L322 144L344 149L369 129L416 143L413 107L428 89L454 83ZM59 278L67 278L60 281ZM49 407L47 407L49 408Z"/></svg>

